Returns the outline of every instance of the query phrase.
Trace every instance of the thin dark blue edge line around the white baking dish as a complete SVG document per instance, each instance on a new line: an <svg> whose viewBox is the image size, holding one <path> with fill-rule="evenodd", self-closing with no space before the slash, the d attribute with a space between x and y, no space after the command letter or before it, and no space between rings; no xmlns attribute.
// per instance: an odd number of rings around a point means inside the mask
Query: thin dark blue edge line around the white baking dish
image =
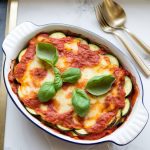
<svg viewBox="0 0 150 150"><path fill-rule="evenodd" d="M31 24L33 24L33 25L35 25L35 26L39 26L39 27L41 27L41 26L46 26L46 25L69 26L69 27L72 27L72 28L79 28L80 30L85 31L85 32L87 32L87 33L89 33L89 34L95 34L96 36L101 37L101 36L99 36L98 34L92 32L92 31L89 31L89 30L87 30L87 29L84 29L84 28L78 27L78 26L74 26L74 25L63 24L63 23L49 23L49 24L37 25L37 24L32 23L31 21L26 21L26 22L29 22L29 23L31 23ZM25 23L25 22L24 22L24 23ZM101 38L103 38L103 37L101 37ZM105 38L103 38L103 39L104 39L105 41L107 41L108 43L110 43L111 45L113 45L116 49L118 49L113 43L109 42L109 41L106 40ZM119 49L118 49L118 50L119 50ZM144 105L144 88L143 88L143 82L142 82L141 76L140 76L140 74L139 74L137 68L132 64L131 59L130 59L124 52L122 52L122 51L119 50L123 55L125 55L125 57L127 57L127 59L130 61L130 63L135 67L135 70L136 70L136 72L137 72L137 74L138 74L138 76L139 76L139 78L140 78L140 82L141 82L141 85L142 85L142 91L143 91L143 92L142 92L142 104L143 104L143 106L144 106L144 108L145 108L145 110L146 110L146 112L147 112L147 114L148 114L147 121L146 121L144 127L141 129L141 131L137 134L137 136L136 136L135 138L133 138L131 141L129 141L128 143L126 143L126 144L118 144L118 143L116 143L116 142L114 142L114 141L111 141L111 140L106 140L106 141L102 141L102 142L95 142L95 143L89 143L89 144L86 143L86 144L85 144L85 143L78 143L78 142L74 142L74 141L69 141L69 140L66 140L66 139L64 139L64 138L61 138L61 137L59 137L59 136L57 136L57 135L54 135L54 134L52 134L52 133L46 131L46 130L43 129L42 127L38 126L36 123L34 123L34 122L32 121L32 119L30 119L30 118L28 118L28 116L26 116L26 114L18 107L18 105L16 104L15 100L12 98L12 96L11 96L11 94L10 94L8 88L7 88L7 84L6 84L6 80L5 80L5 75L4 75L5 63L6 63L6 53L5 53L4 49L3 49L3 47L2 47L2 51L3 51L4 55L5 55L4 64L3 64L3 78L4 78L4 84L5 84L7 93L9 94L11 100L13 101L13 103L15 104L15 106L18 108L18 110L19 110L30 122L32 122L35 126L37 126L38 128L40 128L41 130L43 130L43 131L46 132L47 134L52 135L52 136L54 136L55 138L61 139L61 140L63 140L63 141L66 141L66 142L69 142L69 143L72 143L72 144L77 144L77 145L97 145L97 144L102 144L102 143L110 142L110 143L114 143L114 144L116 144L116 145L118 145L118 146L124 146L124 145L129 144L129 143L132 142L133 140L135 140L135 139L139 136L139 134L143 131L143 129L145 128L145 126L146 126L146 124L147 124L147 122L148 122L148 120L149 120L149 112L148 112L147 108L146 108L145 105Z"/></svg>

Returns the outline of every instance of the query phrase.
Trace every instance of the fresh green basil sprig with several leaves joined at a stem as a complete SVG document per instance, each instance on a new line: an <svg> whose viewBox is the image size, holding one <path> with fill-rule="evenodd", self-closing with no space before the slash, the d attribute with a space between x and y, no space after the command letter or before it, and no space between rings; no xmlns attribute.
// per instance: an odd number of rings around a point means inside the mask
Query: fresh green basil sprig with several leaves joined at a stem
<svg viewBox="0 0 150 150"><path fill-rule="evenodd" d="M75 83L81 77L81 71L78 68L70 68L62 75L60 74L55 67L58 61L58 52L52 44L38 43L36 45L36 55L39 59L51 65L55 74L54 82L43 83L38 91L38 99L41 102L47 102L52 99L56 91L62 87L63 82Z"/></svg>

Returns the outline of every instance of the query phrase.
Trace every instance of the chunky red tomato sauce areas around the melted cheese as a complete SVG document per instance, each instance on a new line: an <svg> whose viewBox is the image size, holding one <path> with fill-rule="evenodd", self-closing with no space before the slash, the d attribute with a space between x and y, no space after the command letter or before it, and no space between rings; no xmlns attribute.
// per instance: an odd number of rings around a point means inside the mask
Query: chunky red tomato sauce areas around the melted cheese
<svg viewBox="0 0 150 150"><path fill-rule="evenodd" d="M33 60L35 53L36 53L36 43L37 42L45 42L45 43L51 43L56 48L58 49L59 55L60 56L65 56L67 58L67 61L70 63L71 67L77 67L77 68L83 68L83 67L91 67L95 66L99 63L99 54L103 55L106 54L106 49L100 48L99 51L91 51L89 49L88 45L80 44L78 43L78 52L75 54L71 51L66 51L64 48L64 44L66 42L71 42L74 39L74 37L65 37L62 39L54 39L50 38L49 34L47 33L41 33L38 34L36 37L32 38L29 41L29 45L27 48L26 53L23 55L21 61L14 67L14 71L11 70L8 79L11 84L12 90L14 93L17 94L18 91L18 86L19 83L16 82L16 79L20 79L23 77L27 64ZM47 71L42 68L34 68L33 70L30 71L30 74L32 77L35 78L35 80L42 80L44 77L47 75ZM104 113L96 122L94 126L91 128L87 129L87 131L90 133L89 135L86 136L79 136L76 138L79 139L86 139L86 140L95 140L102 138L110 133L112 133L117 127L111 127L108 128L108 122L116 115L116 112L118 109L123 108L125 103L124 103L124 97L125 97L125 92L123 90L123 85L125 81L125 76L128 75L131 77L133 85L134 85L134 90L132 94L130 95L130 98L132 99L131 103L132 106L135 103L135 100L138 95L138 86L136 84L135 78L125 69L123 68L115 68L114 71L114 76L116 78L116 82L114 83L113 86L117 86L117 96L107 96L105 100L105 105L109 106L111 104L115 105L115 110L113 112L107 112ZM66 89L70 84L65 83L63 85L63 89ZM77 84L78 88L83 87L84 83ZM70 95L68 95L70 97ZM82 128L83 127L83 119L78 118L79 122L75 122L73 119L73 113L74 111L71 110L69 112L66 112L64 114L60 114L56 111L55 105L54 105L54 100L51 100L47 103L44 103L48 105L48 110L47 111L42 111L40 109L40 105L42 104L38 98L35 96L34 98L30 99L24 99L22 102L24 103L25 106L35 109L35 111L38 114L41 114L42 118L52 124L60 124L63 125L64 127L68 128ZM71 136L71 133L65 133Z"/></svg>

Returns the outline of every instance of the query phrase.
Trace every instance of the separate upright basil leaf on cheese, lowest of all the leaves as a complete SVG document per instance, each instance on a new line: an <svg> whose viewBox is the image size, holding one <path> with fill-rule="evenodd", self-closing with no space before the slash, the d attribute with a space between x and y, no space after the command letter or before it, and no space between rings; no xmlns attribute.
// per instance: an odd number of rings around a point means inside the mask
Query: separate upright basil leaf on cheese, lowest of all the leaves
<svg viewBox="0 0 150 150"><path fill-rule="evenodd" d="M76 89L73 92L72 105L74 107L75 112L80 117L84 117L89 111L90 100L83 90Z"/></svg>

